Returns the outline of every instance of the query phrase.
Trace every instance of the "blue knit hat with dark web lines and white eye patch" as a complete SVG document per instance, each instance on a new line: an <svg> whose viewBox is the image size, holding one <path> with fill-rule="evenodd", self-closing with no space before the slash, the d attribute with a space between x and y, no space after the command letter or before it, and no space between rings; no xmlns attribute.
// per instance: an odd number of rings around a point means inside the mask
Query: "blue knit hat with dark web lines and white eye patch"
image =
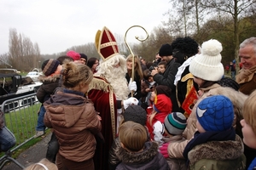
<svg viewBox="0 0 256 170"><path fill-rule="evenodd" d="M214 95L201 100L196 108L196 117L206 131L223 132L232 127L234 108L229 98Z"/></svg>

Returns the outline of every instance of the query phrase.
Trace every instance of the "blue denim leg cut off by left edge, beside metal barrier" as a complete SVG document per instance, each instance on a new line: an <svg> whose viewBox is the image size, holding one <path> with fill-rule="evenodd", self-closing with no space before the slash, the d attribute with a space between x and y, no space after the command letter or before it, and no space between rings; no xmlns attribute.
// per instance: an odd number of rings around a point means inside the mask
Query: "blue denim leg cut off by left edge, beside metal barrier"
<svg viewBox="0 0 256 170"><path fill-rule="evenodd" d="M0 129L0 150L7 151L16 144L14 133L11 133L7 127Z"/></svg>

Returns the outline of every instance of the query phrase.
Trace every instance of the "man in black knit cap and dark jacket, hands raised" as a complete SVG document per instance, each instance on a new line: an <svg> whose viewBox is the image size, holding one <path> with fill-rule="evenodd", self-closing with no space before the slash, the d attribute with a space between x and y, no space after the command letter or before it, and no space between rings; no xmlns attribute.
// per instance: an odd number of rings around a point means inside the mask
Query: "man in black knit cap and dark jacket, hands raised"
<svg viewBox="0 0 256 170"><path fill-rule="evenodd" d="M173 84L177 68L180 66L179 63L172 56L172 46L168 43L163 44L160 48L159 55L163 61L166 61L166 71L163 75L159 74L157 68L151 71L151 76L154 78L154 82L159 85L164 85L172 89L172 111L179 111L176 99L176 86Z"/></svg>

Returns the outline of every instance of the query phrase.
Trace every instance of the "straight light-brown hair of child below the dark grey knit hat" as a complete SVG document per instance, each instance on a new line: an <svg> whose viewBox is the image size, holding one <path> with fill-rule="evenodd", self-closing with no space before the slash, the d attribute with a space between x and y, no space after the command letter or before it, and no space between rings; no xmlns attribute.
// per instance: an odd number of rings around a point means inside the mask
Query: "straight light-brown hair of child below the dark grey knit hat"
<svg viewBox="0 0 256 170"><path fill-rule="evenodd" d="M127 150L137 152L143 149L148 135L143 125L127 121L122 123L119 127L119 139Z"/></svg>

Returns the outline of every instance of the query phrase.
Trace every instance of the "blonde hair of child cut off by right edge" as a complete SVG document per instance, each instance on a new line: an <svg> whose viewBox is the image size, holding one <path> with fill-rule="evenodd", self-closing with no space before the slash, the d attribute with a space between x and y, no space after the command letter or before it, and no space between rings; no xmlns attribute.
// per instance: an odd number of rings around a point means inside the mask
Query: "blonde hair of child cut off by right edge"
<svg viewBox="0 0 256 170"><path fill-rule="evenodd" d="M245 122L250 125L253 129L253 133L256 134L256 90L253 91L252 94L246 99L243 108L242 114Z"/></svg>

